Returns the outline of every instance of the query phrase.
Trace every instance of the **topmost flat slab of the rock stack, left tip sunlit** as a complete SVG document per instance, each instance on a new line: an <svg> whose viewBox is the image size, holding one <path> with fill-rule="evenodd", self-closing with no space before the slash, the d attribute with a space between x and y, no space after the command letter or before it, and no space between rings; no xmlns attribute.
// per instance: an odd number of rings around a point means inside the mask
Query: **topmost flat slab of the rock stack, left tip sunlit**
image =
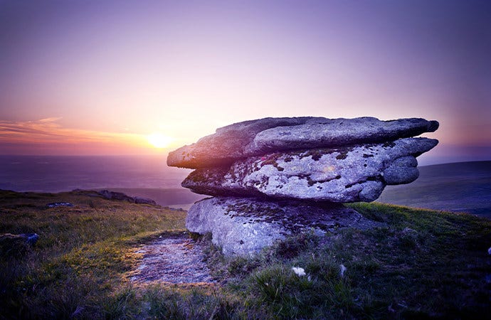
<svg viewBox="0 0 491 320"><path fill-rule="evenodd" d="M438 122L420 118L390 121L374 117L257 119L219 128L215 134L195 144L170 152L167 165L191 169L222 166L271 151L386 142L436 129Z"/></svg>

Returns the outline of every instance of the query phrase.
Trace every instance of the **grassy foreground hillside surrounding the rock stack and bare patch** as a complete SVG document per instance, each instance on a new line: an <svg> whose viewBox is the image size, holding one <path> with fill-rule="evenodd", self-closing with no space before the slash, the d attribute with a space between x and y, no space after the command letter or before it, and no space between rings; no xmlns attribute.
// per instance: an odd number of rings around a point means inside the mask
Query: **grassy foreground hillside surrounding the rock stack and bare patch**
<svg viewBox="0 0 491 320"><path fill-rule="evenodd" d="M53 202L73 207L47 208ZM491 222L377 203L352 205L385 223L329 237L299 235L250 259L208 237L213 285L134 286L133 248L184 230L184 213L90 191L0 191L0 319L484 319L490 314ZM22 250L21 250L22 249ZM25 249L25 250L24 250ZM343 274L341 270L346 268ZM304 268L305 276L292 272Z"/></svg>

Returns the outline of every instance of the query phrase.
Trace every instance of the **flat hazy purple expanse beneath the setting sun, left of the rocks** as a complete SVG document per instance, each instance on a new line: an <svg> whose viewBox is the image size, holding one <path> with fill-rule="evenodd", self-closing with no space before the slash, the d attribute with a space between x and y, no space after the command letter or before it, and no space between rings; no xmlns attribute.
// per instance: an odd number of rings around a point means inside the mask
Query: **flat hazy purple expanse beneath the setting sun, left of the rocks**
<svg viewBox="0 0 491 320"><path fill-rule="evenodd" d="M0 189L181 188L189 172L164 156L0 156Z"/></svg>

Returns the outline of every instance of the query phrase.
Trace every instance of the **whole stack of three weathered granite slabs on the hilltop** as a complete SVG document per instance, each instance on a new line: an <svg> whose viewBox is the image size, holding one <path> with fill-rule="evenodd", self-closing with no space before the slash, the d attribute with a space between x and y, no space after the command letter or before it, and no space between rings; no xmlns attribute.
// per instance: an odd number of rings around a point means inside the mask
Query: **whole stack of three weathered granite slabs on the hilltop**
<svg viewBox="0 0 491 320"><path fill-rule="evenodd" d="M436 129L438 122L419 118L258 119L217 129L172 151L167 164L196 169L182 186L217 197L192 206L186 227L213 233L226 254L246 255L312 226L325 231L373 225L334 203L374 201L386 185L414 181L416 157L438 144L414 137ZM272 210L280 211L268 215ZM278 218L279 212L290 223ZM308 220L312 212L317 218ZM343 222L332 223L336 216ZM302 223L292 228L295 217Z"/></svg>

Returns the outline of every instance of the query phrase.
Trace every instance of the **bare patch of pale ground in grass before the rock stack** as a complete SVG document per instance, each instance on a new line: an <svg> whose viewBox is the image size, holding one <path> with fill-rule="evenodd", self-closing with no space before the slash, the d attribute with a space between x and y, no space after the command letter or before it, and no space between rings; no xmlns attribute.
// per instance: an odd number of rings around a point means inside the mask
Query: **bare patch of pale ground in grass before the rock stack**
<svg viewBox="0 0 491 320"><path fill-rule="evenodd" d="M178 235L150 242L137 250L143 254L130 279L138 284L169 282L173 284L213 283L206 266L203 247L188 235Z"/></svg>

